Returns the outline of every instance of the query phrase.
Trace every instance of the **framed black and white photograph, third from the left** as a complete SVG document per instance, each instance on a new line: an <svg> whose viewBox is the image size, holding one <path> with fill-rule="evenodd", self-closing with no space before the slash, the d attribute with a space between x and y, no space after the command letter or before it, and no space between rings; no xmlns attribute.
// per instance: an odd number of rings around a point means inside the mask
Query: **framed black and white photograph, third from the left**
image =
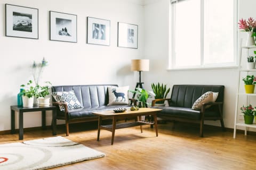
<svg viewBox="0 0 256 170"><path fill-rule="evenodd" d="M87 17L87 44L110 45L110 21Z"/></svg>

